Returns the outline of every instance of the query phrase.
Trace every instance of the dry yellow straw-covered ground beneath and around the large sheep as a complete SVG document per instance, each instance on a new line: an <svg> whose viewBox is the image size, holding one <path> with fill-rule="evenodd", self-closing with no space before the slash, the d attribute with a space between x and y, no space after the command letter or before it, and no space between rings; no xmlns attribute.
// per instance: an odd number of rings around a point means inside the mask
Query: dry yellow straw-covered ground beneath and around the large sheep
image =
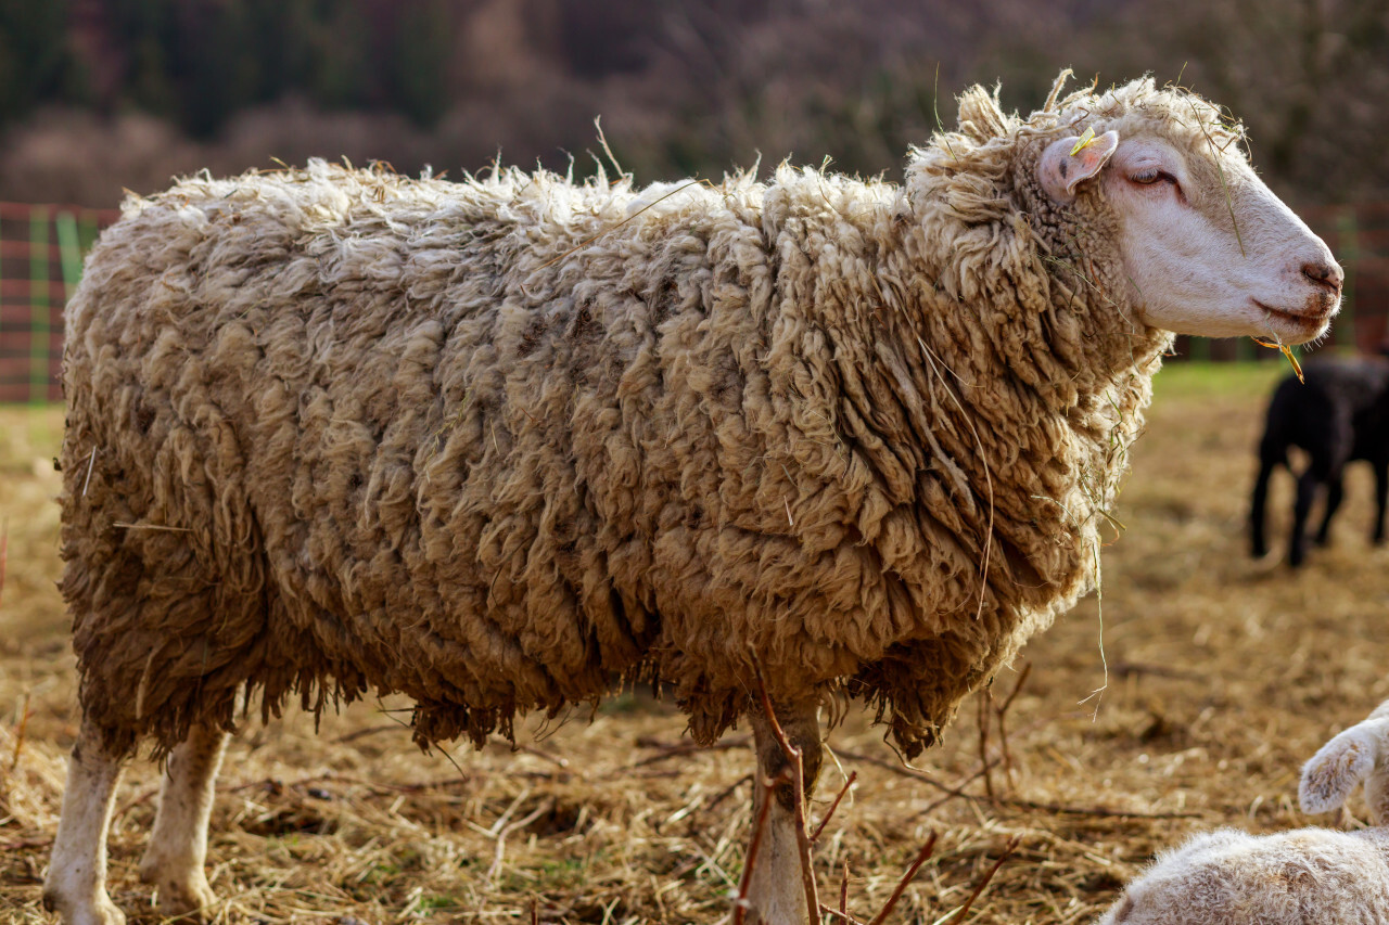
<svg viewBox="0 0 1389 925"><path fill-rule="evenodd" d="M1160 375L1115 511L1126 531L1104 553L1103 621L1100 601L1088 599L1025 650L1018 671L997 678L995 708L1031 665L1006 738L990 724L992 781L979 775L975 704L921 772L903 768L857 711L829 735L835 762L814 817L843 775L858 779L817 846L822 897L838 906L847 868L849 908L871 918L935 831L935 857L893 914L932 925L1020 836L965 919L1088 922L1153 850L1185 832L1308 822L1295 804L1301 761L1389 696L1389 550L1367 544L1368 472L1354 472L1333 547L1301 574L1247 558L1253 446L1264 397L1285 369ZM58 410L0 411L6 922L44 921L39 883L75 732L53 588L58 483L49 460L60 426ZM1275 489L1281 531L1289 479ZM410 744L399 706L357 704L317 736L301 714L247 724L213 822L218 921L728 919L749 825L746 732L690 750L667 704L628 693L592 721L528 724L517 751L460 747L454 767ZM140 924L160 921L135 875L154 786L154 769L135 764L111 836L111 892Z"/></svg>

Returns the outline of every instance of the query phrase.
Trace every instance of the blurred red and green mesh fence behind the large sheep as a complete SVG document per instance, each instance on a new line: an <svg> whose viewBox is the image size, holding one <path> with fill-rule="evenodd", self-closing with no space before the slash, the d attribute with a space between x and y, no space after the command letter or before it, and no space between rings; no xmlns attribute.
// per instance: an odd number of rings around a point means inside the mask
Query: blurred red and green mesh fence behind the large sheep
<svg viewBox="0 0 1389 925"><path fill-rule="evenodd" d="M1303 210L1346 268L1346 301L1326 342L1389 346L1389 203ZM61 397L63 306L82 260L115 210L0 203L0 401ZM1250 339L1178 338L1176 358L1274 360Z"/></svg>

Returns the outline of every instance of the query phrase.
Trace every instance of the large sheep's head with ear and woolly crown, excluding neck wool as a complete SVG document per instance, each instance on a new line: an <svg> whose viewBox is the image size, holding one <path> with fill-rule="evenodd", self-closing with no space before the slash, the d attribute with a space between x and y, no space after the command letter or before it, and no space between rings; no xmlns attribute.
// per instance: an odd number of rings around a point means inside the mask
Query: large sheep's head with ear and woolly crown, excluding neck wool
<svg viewBox="0 0 1389 925"><path fill-rule="evenodd" d="M1042 150L1036 181L1061 208L1111 215L1147 325L1279 343L1325 333L1340 267L1253 171L1238 124L1151 81L1085 96L1060 111L1065 135Z"/></svg>

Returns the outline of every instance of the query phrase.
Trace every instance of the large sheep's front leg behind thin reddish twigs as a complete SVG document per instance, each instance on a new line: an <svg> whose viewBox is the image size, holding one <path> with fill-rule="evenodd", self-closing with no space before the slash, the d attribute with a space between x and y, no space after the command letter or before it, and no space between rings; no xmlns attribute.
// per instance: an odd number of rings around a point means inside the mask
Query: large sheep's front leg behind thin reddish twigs
<svg viewBox="0 0 1389 925"><path fill-rule="evenodd" d="M763 781L778 781L768 796L763 786L753 788L753 818L758 818L763 800L771 799L767 812L767 826L753 862L747 882L750 922L760 925L806 925L818 921L811 918L806 903L804 879L800 869L800 849L797 842L796 792L792 779L790 761L776 742L771 722L757 707L751 710L753 742L757 750L757 776ZM800 749L801 771L806 781L806 800L814 793L820 776L820 706L817 701L804 704L776 706L776 719L790 744Z"/></svg>

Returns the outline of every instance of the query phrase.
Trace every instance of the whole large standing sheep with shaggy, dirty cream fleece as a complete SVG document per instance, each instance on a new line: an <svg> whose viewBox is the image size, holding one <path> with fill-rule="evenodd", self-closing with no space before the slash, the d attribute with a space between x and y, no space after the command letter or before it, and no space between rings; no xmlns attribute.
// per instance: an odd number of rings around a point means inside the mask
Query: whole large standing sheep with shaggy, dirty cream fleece
<svg viewBox="0 0 1389 925"><path fill-rule="evenodd" d="M311 162L129 201L67 314L83 721L46 903L121 921L104 836L146 739L142 876L214 901L243 694L403 692L422 744L481 743L654 675L710 743L760 667L807 790L835 692L931 744L1093 585L1171 332L1301 343L1339 306L1215 107L1064 76L1026 119L968 90L900 186ZM807 921L795 808L753 919Z"/></svg>

